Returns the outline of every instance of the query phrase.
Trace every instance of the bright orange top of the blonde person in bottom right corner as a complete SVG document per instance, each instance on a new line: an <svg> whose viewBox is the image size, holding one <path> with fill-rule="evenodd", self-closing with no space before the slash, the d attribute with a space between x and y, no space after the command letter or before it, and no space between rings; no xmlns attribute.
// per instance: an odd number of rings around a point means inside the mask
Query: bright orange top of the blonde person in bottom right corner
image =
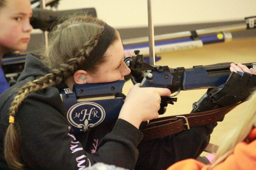
<svg viewBox="0 0 256 170"><path fill-rule="evenodd" d="M251 142L239 142L234 152L212 170L256 170L256 128L250 132L248 139ZM209 166L195 159L186 159L167 170L208 170Z"/></svg>

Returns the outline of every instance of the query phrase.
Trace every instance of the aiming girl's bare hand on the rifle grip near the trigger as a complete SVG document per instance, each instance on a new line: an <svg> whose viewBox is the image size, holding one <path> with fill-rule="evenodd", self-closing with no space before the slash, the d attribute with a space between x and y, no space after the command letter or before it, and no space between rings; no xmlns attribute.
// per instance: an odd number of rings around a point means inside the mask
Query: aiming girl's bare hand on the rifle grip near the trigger
<svg viewBox="0 0 256 170"><path fill-rule="evenodd" d="M170 96L168 88L134 85L128 92L119 118L139 128L141 122L158 118L161 96Z"/></svg>

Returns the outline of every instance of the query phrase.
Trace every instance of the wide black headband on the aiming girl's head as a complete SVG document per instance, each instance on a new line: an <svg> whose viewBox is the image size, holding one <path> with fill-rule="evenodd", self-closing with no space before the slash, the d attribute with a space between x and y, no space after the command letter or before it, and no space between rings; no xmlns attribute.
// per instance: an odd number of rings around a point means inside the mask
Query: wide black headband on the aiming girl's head
<svg viewBox="0 0 256 170"><path fill-rule="evenodd" d="M106 52L108 46L112 42L115 34L115 28L107 25L105 23L104 29L99 37L98 43L95 47L91 50L90 58L93 61L96 61L97 58L103 56L103 54Z"/></svg>

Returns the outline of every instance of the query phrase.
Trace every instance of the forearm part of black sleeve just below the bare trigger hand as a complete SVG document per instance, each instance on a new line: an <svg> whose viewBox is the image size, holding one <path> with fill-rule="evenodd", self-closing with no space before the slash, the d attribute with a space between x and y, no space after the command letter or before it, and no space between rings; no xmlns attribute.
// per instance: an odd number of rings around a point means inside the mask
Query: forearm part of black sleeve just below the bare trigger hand
<svg viewBox="0 0 256 170"><path fill-rule="evenodd" d="M99 143L95 162L134 169L139 155L137 146L142 137L142 133L136 127L123 119L118 119L112 132Z"/></svg>

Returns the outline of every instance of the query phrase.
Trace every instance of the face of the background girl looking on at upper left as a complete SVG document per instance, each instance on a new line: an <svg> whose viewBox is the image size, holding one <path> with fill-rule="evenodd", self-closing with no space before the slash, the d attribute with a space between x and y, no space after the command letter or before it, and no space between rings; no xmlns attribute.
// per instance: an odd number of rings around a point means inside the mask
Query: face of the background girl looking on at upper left
<svg viewBox="0 0 256 170"><path fill-rule="evenodd" d="M6 0L0 8L0 54L27 49L32 9L29 0Z"/></svg>

